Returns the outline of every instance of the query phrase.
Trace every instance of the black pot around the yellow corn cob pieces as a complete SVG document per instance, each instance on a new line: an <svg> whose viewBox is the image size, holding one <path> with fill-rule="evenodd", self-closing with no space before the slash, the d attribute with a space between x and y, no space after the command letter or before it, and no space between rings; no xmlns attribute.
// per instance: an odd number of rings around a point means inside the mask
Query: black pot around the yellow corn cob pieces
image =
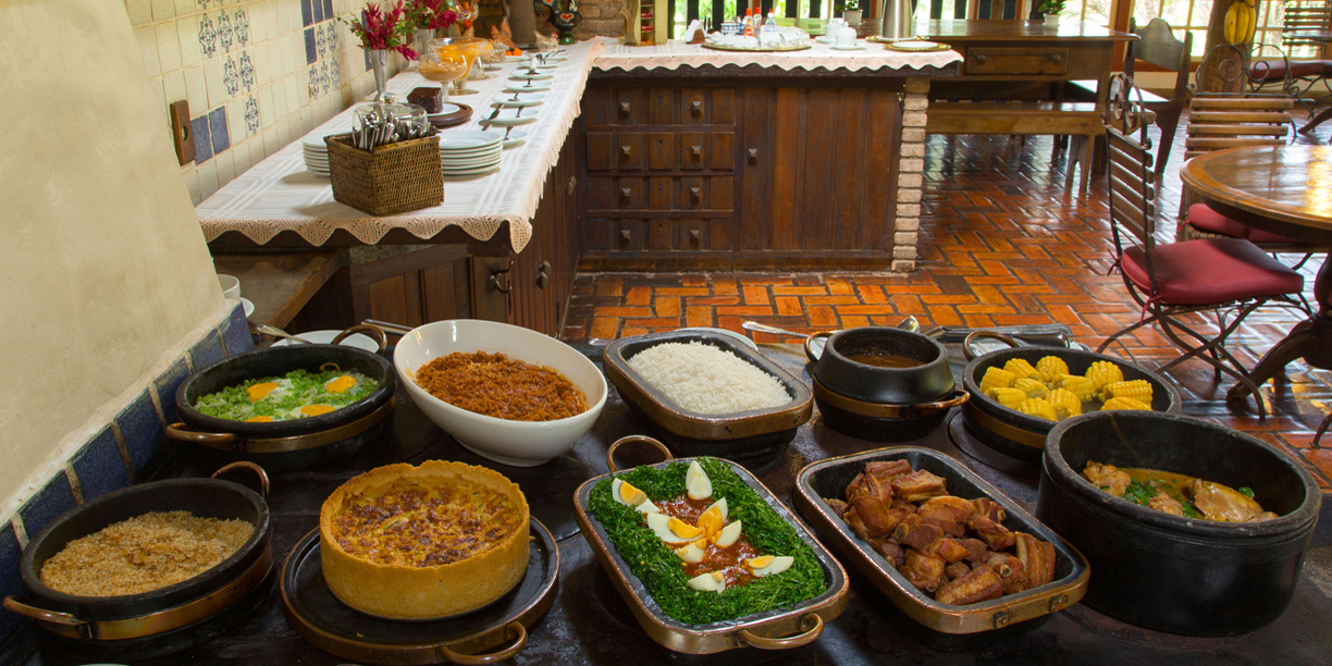
<svg viewBox="0 0 1332 666"><path fill-rule="evenodd" d="M962 408L963 425L986 446L1027 462L1040 462L1046 450L1046 436L1055 426L1054 421L1023 414L1008 409L980 392L980 380L990 368L1003 368L1012 358L1023 358L1031 365L1047 356L1058 356L1068 364L1072 374L1083 374L1096 361L1111 361L1124 372L1124 380L1147 380L1152 385L1152 410L1179 414L1180 398L1175 386L1146 368L1126 362L1112 356L1082 352L1078 349L1058 349L1048 346L1020 346L1000 349L974 358L962 372L962 384L971 400Z"/></svg>

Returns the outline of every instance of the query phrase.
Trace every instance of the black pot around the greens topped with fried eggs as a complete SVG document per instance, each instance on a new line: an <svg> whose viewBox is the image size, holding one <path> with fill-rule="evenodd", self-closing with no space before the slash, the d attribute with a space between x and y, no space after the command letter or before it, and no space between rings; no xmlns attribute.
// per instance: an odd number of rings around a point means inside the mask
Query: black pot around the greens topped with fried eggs
<svg viewBox="0 0 1332 666"><path fill-rule="evenodd" d="M194 409L201 396L257 377L281 377L292 370L321 372L329 364L356 370L380 382L358 402L314 417L248 424L210 417ZM290 345L260 349L218 361L185 378L176 389L182 422L166 428L172 440L197 445L194 453L217 462L248 460L285 470L332 462L356 453L373 440L393 409L397 377L380 354L344 345Z"/></svg>

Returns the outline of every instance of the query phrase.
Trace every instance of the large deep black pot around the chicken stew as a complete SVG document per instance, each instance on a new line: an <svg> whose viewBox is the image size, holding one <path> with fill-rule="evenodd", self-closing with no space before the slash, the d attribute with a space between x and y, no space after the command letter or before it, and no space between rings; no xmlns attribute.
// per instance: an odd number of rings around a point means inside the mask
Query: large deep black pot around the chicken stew
<svg viewBox="0 0 1332 666"><path fill-rule="evenodd" d="M1151 468L1248 486L1279 518L1181 518L1112 497L1080 474L1087 461ZM1036 517L1087 555L1083 603L1131 625L1185 635L1235 635L1285 611L1321 497L1289 456L1208 421L1155 412L1099 412L1050 432Z"/></svg>

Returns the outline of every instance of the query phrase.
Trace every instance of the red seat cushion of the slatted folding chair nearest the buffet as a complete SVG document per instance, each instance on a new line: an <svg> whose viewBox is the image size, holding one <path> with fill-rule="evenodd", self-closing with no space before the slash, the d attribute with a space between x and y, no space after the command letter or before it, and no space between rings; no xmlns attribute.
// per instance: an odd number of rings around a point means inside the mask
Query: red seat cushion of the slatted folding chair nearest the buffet
<svg viewBox="0 0 1332 666"><path fill-rule="evenodd" d="M1124 250L1120 268L1151 293L1142 248ZM1200 238L1152 249L1158 297L1171 305L1207 305L1281 296L1304 289L1304 276L1243 238Z"/></svg>

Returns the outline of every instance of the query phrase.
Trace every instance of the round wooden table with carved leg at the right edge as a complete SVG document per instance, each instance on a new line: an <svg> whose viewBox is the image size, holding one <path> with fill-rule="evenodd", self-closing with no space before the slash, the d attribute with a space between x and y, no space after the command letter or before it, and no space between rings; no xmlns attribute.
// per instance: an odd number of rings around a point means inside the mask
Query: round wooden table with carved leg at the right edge
<svg viewBox="0 0 1332 666"><path fill-rule="evenodd" d="M1332 246L1332 147L1232 148L1184 164L1180 178L1216 212L1257 229ZM1261 385L1304 358L1332 369L1332 261L1324 258L1313 282L1319 313L1295 325L1249 373ZM1227 394L1248 394L1236 384Z"/></svg>

